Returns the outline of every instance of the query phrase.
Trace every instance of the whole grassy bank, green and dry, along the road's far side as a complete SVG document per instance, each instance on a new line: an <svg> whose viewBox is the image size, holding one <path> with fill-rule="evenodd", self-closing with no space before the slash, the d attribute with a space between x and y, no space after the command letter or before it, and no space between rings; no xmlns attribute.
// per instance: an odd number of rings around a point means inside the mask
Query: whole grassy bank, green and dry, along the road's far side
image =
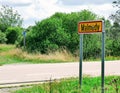
<svg viewBox="0 0 120 93"><path fill-rule="evenodd" d="M89 58L85 61L98 61L99 59ZM106 60L120 60L120 57L106 57ZM12 63L58 63L58 62L76 62L79 57L74 57L66 50L56 51L43 55L40 53L31 54L16 48L14 45L0 44L0 65Z"/></svg>

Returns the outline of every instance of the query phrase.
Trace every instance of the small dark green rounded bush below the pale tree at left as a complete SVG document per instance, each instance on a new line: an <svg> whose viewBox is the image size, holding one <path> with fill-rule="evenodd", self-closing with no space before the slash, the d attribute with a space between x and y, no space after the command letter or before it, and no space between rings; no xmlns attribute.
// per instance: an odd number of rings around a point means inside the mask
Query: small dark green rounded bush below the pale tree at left
<svg viewBox="0 0 120 93"><path fill-rule="evenodd" d="M6 30L7 44L15 44L19 35L22 34L22 28L20 27L9 27Z"/></svg>

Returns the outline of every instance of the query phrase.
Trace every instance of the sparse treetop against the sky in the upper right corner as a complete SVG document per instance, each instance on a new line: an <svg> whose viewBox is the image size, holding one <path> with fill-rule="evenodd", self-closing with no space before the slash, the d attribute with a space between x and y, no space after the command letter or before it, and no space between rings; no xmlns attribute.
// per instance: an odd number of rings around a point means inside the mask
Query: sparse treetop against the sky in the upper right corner
<svg viewBox="0 0 120 93"><path fill-rule="evenodd" d="M120 23L120 0L113 1L113 6L117 8L118 10L116 11L115 14L112 14L110 18L117 23Z"/></svg>

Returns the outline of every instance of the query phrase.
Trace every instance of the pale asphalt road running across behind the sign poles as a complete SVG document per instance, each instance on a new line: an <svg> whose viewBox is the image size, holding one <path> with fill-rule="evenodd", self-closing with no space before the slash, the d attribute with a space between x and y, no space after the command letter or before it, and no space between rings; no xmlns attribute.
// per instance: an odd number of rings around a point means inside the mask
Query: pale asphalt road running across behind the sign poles
<svg viewBox="0 0 120 93"><path fill-rule="evenodd" d="M83 62L83 75L100 76L101 62ZM120 60L105 62L105 75L120 76ZM79 62L0 66L0 84L79 76Z"/></svg>

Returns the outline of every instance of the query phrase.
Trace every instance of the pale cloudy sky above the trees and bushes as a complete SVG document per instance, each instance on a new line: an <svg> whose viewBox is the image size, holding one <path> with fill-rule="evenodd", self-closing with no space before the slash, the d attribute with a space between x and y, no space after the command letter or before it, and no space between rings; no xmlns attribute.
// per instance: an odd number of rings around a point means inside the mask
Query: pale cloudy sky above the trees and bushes
<svg viewBox="0 0 120 93"><path fill-rule="evenodd" d="M1 5L9 5L17 10L24 19L23 26L34 25L55 12L77 12L89 9L99 16L108 18L115 12L112 6L114 0L0 0Z"/></svg>

